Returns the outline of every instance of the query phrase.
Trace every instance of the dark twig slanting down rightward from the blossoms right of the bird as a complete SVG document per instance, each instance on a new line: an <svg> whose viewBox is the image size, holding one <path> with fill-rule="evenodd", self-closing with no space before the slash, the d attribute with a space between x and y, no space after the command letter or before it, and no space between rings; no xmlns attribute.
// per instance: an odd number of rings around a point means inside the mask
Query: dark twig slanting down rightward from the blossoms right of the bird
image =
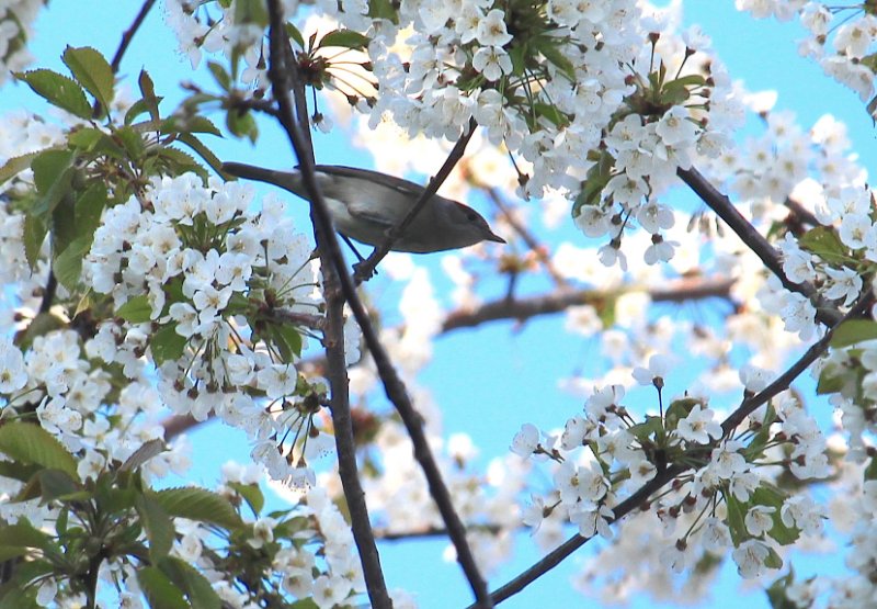
<svg viewBox="0 0 877 609"><path fill-rule="evenodd" d="M785 271L783 271L783 261L779 259L776 249L737 211L730 199L716 190L716 187L694 167L691 169L677 169L676 174L761 258L764 266L779 279L786 290L801 294L810 300L813 308L816 308L816 318L820 324L831 327L838 323L841 314L822 298L811 283L795 283L786 277Z"/></svg>

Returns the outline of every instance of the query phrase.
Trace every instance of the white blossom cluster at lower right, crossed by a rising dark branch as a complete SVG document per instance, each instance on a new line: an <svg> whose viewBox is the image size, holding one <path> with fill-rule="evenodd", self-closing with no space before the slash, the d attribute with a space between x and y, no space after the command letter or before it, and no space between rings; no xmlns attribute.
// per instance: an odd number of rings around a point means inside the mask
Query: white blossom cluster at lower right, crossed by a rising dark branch
<svg viewBox="0 0 877 609"><path fill-rule="evenodd" d="M641 384L658 388L659 399L661 369L652 358L650 369L635 372ZM750 395L763 388L763 379L756 371L743 379ZM731 432L703 399L679 398L661 416L637 422L620 404L624 396L619 385L596 388L583 415L569 419L559 436L540 435L529 424L515 436L513 452L555 463L553 489L534 494L524 516L535 531L544 522L556 528L569 521L584 537L612 539L613 508L668 467L685 464L692 471L642 508L662 523L663 550L652 559L664 569L681 573L707 553L730 551L740 574L756 577L782 566L781 545L821 533L824 507L777 486L784 473L801 481L830 473L825 439L791 394Z"/></svg>

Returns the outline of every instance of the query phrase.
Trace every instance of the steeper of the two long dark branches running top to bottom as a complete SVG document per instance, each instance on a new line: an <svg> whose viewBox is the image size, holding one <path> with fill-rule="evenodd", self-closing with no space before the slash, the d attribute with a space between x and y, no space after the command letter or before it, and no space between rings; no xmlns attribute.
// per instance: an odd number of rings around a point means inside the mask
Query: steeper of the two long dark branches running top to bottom
<svg viewBox="0 0 877 609"><path fill-rule="evenodd" d="M337 267L332 258L341 257L338 241L334 237L332 222L326 203L322 201L314 179L314 157L309 140L303 137L298 125L295 123L293 106L288 91L289 76L293 67L288 58L288 41L286 38L280 0L269 0L269 43L270 61L269 79L274 99L280 110L280 121L285 128L295 148L298 162L301 167L305 187L315 195L311 200L311 216L314 219L317 246L322 263L324 298L327 304L326 326L323 329L326 357L328 361L328 381L331 390L331 413L334 426L335 448L338 451L338 470L344 488L344 497L351 517L351 529L356 548L360 552L360 562L363 566L368 599L373 607L391 609L392 601L387 593L384 582L384 572L380 568L380 556L375 543L368 509L365 504L365 492L357 473L356 451L353 440L353 422L350 414L350 395L344 362L343 336L343 298L339 291ZM307 114L305 114L307 115ZM301 116L299 115L299 120Z"/></svg>

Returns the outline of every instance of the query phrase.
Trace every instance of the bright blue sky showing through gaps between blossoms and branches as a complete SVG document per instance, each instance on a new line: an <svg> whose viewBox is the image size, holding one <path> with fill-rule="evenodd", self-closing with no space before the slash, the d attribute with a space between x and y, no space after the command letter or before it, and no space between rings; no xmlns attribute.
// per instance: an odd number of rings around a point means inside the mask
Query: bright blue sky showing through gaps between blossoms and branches
<svg viewBox="0 0 877 609"><path fill-rule="evenodd" d="M743 79L750 90L777 90L777 109L793 110L805 128L824 113L841 117L850 127L850 137L863 165L869 166L868 161L877 157L876 132L864 104L854 93L823 77L818 66L797 56L795 40L802 35L797 24L754 21L738 13L730 0L692 0L684 4L686 23L699 23L713 37L714 48L733 78ZM30 45L37 57L33 67L61 71L59 56L67 44L94 46L111 56L121 33L128 27L138 9L137 2L53 2L37 22L36 36ZM95 27L95 19L100 27ZM157 92L167 98L166 110L173 108L180 98L180 78L187 78L187 63L174 48L175 42L163 26L157 7L146 27L135 38L122 69L122 77L134 89L136 76L145 67L156 82ZM0 112L22 106L39 109L41 105L23 86L8 83L0 92ZM273 167L284 165L278 162L278 158L288 158L285 165L292 166L294 161L288 145L276 129L263 125L263 137L254 149L247 144L217 142L217 153L224 159ZM340 135L319 137L317 154L321 162L371 163L367 154L345 145ZM300 222L305 222L304 206L301 210ZM572 230L565 235L570 239L577 238ZM437 269L435 260L428 261L428 264ZM488 286L485 297L501 294L502 287L498 284ZM558 375L568 375L586 361L589 348L577 340L560 340L557 338L560 336L562 319L558 316L532 320L520 331L514 330L511 324L498 323L475 331L453 332L436 342L434 363L421 375L421 382L430 387L441 405L446 432L472 436L481 448L481 464L487 463L490 456L504 453L522 421L553 427L581 407L578 398L558 392L556 383ZM459 365L460 360L466 365ZM502 379L502 382L486 382L486 377ZM191 476L195 483L210 486L218 477L219 465L226 460L248 460L242 435L218 424L206 425L191 437L197 461ZM529 546L527 535L520 535L519 548ZM383 544L383 563L390 586L415 591L424 608L466 606L470 600L468 587L459 569L443 562L444 548L443 541ZM574 564L589 552L586 546L568 564L549 573L502 607L596 609L600 605L594 599L571 591L568 583ZM491 578L491 587L517 574L532 560L532 552L519 553L510 565ZM750 609L768 607L760 593L741 597L738 582L733 568L726 568L713 598L701 606L730 609L739 607L744 598ZM647 599L637 599L633 606L671 607Z"/></svg>

